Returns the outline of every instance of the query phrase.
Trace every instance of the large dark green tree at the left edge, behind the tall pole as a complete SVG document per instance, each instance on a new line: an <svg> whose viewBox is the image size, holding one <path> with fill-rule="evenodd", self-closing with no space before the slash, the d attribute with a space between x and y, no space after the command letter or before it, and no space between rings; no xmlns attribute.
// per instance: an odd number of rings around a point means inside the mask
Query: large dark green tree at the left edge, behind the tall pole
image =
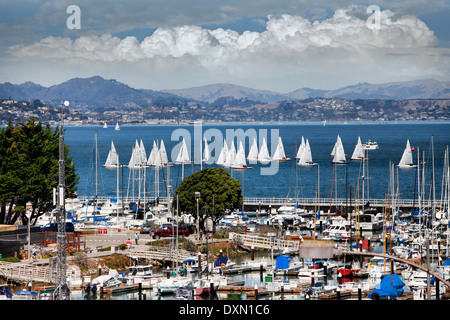
<svg viewBox="0 0 450 320"><path fill-rule="evenodd" d="M78 176L65 146L66 196L76 191ZM30 120L0 131L0 223L13 224L31 205L31 220L53 207L59 177L59 128Z"/></svg>

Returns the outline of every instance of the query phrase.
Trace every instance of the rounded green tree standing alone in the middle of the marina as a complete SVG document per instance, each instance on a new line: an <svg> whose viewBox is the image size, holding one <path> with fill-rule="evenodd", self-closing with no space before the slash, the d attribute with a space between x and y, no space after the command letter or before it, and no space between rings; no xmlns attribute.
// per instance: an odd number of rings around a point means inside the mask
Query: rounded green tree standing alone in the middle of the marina
<svg viewBox="0 0 450 320"><path fill-rule="evenodd" d="M195 192L200 192L198 205L201 223L206 216L217 222L227 210L239 208L244 201L241 183L222 168L200 170L185 178L175 191L174 204L178 196L180 210L197 219Z"/></svg>

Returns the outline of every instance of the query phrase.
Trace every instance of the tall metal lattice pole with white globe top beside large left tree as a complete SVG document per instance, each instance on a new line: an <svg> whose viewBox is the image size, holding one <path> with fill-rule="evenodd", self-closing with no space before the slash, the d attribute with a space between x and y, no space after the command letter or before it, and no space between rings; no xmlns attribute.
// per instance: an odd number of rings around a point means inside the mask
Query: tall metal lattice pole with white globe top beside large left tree
<svg viewBox="0 0 450 320"><path fill-rule="evenodd" d="M54 300L67 300L69 290L67 286L67 237L66 237L66 209L65 209L65 162L64 162L64 107L69 106L69 101L64 101L61 111L61 121L59 127L59 184L58 184L58 223L57 257L56 257L56 289L53 292Z"/></svg>

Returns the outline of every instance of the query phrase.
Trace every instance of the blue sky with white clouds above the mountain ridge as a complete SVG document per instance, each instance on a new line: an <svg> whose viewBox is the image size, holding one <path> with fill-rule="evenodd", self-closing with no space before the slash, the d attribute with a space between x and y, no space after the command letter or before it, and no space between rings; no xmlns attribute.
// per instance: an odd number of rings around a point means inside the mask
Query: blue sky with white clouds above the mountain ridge
<svg viewBox="0 0 450 320"><path fill-rule="evenodd" d="M449 81L449 17L450 0L0 0L0 83L98 75L288 93Z"/></svg>

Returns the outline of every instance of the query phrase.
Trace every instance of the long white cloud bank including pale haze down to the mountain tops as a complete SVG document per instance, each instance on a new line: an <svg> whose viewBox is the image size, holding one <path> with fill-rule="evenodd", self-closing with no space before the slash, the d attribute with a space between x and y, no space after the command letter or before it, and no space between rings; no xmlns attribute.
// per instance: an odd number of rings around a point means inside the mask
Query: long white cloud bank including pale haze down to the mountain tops
<svg viewBox="0 0 450 320"><path fill-rule="evenodd" d="M270 14L261 31L183 24L158 27L142 40L107 32L51 35L12 45L8 53L68 74L120 74L134 87L145 83L156 90L185 87L188 81L286 92L305 83L330 89L360 79L448 78L449 56L433 47L436 36L423 21L385 9L379 28L369 28L366 9L351 5L322 20Z"/></svg>

